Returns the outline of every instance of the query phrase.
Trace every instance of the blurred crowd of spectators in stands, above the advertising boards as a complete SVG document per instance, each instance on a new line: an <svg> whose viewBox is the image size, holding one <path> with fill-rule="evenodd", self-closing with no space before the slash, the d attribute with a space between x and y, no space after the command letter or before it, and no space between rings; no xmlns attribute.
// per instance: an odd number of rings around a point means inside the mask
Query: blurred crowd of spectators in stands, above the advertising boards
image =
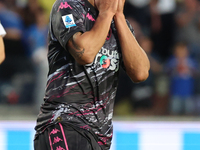
<svg viewBox="0 0 200 150"><path fill-rule="evenodd" d="M0 104L42 103L48 18L54 0L0 0L6 59ZM124 11L151 62L149 78L133 84L122 70L116 115L200 114L200 0L127 0ZM126 87L126 88L124 88ZM119 111L121 110L121 111Z"/></svg>

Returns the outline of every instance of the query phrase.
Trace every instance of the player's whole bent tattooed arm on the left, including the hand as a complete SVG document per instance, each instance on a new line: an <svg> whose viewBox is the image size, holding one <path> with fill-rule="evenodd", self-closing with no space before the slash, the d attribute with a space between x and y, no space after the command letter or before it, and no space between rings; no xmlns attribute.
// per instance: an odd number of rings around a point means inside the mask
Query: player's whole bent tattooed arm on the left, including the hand
<svg viewBox="0 0 200 150"><path fill-rule="evenodd" d="M67 43L67 49L81 65L93 62L105 43L111 21L117 10L116 0L95 0L95 6L99 10L99 15L92 29L74 34Z"/></svg>

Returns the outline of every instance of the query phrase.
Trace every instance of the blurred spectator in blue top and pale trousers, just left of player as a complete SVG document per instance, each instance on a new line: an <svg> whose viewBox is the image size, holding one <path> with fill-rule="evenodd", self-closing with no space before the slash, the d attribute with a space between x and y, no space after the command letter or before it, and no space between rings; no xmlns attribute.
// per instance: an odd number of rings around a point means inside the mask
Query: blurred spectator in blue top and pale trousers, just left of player
<svg viewBox="0 0 200 150"><path fill-rule="evenodd" d="M34 87L34 103L39 108L43 101L46 78L48 72L47 64L47 35L48 25L45 11L42 7L38 7L35 11L36 23L28 27L25 34L25 43L29 51L29 57L34 65L35 87ZM38 110L36 110L38 112Z"/></svg>

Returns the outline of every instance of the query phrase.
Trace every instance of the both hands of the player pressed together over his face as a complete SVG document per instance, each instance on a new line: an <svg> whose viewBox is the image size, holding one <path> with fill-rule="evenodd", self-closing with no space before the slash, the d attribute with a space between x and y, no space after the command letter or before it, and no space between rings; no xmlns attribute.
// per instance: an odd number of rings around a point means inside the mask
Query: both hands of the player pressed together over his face
<svg viewBox="0 0 200 150"><path fill-rule="evenodd" d="M95 6L99 13L123 13L125 0L95 0Z"/></svg>

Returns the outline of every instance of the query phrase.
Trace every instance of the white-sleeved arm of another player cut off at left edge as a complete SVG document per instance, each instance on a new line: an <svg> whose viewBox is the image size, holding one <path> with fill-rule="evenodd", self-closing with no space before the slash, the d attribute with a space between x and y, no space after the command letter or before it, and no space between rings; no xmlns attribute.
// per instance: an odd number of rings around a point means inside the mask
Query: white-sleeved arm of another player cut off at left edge
<svg viewBox="0 0 200 150"><path fill-rule="evenodd" d="M6 35L6 31L3 28L2 24L0 23L0 64L5 59L5 47L3 42L3 37Z"/></svg>

